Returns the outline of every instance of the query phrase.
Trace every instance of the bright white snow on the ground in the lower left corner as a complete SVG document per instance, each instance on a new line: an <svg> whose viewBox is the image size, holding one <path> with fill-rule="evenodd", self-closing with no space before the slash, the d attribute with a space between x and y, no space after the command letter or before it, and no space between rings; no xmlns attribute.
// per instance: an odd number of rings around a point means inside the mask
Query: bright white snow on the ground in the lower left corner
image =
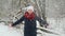
<svg viewBox="0 0 65 36"><path fill-rule="evenodd" d="M22 34L16 29L10 29L4 23L0 23L0 36L22 36Z"/></svg>

